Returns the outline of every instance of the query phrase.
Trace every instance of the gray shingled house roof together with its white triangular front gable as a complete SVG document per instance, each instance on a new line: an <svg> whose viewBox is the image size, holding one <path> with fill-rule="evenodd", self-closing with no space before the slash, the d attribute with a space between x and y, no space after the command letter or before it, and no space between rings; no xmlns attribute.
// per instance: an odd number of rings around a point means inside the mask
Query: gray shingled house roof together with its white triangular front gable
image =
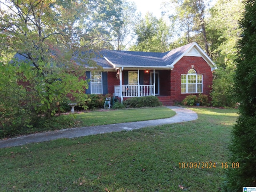
<svg viewBox="0 0 256 192"><path fill-rule="evenodd" d="M165 53L103 50L101 54L103 55L102 59L111 64L113 68L172 69L183 56L202 57L210 67L215 68L212 60L196 42Z"/></svg>

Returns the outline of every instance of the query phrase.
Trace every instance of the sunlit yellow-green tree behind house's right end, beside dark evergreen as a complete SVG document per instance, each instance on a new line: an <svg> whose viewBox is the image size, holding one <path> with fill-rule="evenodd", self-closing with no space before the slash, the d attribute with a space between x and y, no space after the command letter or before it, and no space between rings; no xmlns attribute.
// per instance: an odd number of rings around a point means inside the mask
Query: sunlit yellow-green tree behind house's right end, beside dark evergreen
<svg viewBox="0 0 256 192"><path fill-rule="evenodd" d="M239 28L238 20L243 12L240 0L218 0L210 9L206 31L210 42L210 56L224 69L234 70Z"/></svg>

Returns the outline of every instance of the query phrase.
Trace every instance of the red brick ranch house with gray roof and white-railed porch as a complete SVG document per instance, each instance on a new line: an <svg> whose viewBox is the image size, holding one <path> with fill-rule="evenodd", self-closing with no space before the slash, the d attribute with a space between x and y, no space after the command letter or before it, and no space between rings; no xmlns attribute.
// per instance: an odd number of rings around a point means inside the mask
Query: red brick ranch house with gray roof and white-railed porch
<svg viewBox="0 0 256 192"><path fill-rule="evenodd" d="M210 96L216 68L196 43L165 53L103 50L93 60L102 72L86 72L87 94L130 97L158 96L163 104L182 101L190 94Z"/></svg>

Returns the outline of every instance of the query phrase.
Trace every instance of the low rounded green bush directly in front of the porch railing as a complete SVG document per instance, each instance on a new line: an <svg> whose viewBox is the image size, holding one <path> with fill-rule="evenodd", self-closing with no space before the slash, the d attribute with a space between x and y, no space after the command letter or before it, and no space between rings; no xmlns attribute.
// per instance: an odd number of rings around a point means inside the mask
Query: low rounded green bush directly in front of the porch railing
<svg viewBox="0 0 256 192"><path fill-rule="evenodd" d="M155 96L147 97L133 97L128 98L123 102L126 108L140 108L140 107L158 107L162 106L162 103Z"/></svg>

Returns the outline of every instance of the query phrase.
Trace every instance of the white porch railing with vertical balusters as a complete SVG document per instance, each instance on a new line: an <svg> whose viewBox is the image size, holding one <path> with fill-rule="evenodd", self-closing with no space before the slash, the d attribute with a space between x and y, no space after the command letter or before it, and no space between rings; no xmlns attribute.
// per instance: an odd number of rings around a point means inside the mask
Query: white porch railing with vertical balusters
<svg viewBox="0 0 256 192"><path fill-rule="evenodd" d="M122 85L122 97L145 97L154 95L154 85ZM115 86L115 96L121 97L120 86Z"/></svg>

